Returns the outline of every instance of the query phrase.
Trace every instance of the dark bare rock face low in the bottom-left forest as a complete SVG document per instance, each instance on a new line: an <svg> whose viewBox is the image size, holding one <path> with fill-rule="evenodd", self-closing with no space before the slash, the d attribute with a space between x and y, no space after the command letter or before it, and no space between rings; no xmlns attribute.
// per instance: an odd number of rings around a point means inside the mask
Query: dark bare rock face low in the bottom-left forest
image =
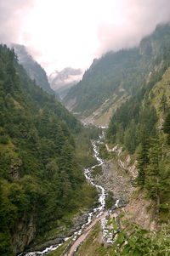
<svg viewBox="0 0 170 256"><path fill-rule="evenodd" d="M30 219L26 219L24 216L15 225L14 233L12 235L12 247L14 253L20 253L24 251L26 246L35 238L36 225L33 214Z"/></svg>

